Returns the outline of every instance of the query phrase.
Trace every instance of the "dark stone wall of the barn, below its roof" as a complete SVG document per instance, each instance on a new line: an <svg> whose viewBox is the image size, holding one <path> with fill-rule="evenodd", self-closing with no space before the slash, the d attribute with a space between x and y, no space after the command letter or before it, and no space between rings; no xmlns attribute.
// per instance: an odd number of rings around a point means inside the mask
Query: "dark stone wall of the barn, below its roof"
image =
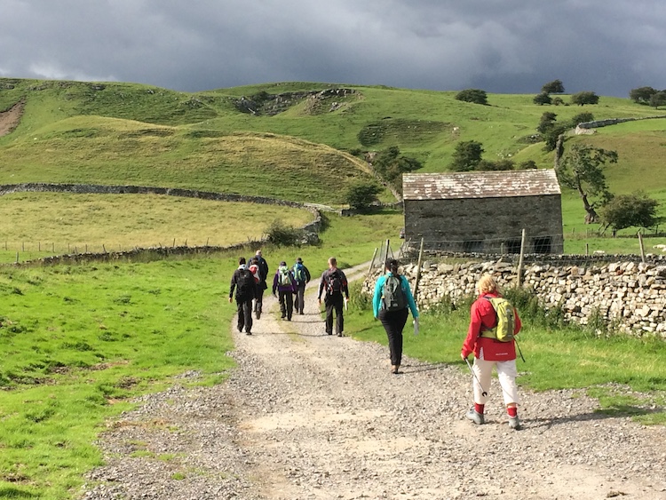
<svg viewBox="0 0 666 500"><path fill-rule="evenodd" d="M559 194L479 199L405 200L405 238L428 250L516 253L527 230L527 253L562 253ZM548 239L549 245L544 245Z"/></svg>

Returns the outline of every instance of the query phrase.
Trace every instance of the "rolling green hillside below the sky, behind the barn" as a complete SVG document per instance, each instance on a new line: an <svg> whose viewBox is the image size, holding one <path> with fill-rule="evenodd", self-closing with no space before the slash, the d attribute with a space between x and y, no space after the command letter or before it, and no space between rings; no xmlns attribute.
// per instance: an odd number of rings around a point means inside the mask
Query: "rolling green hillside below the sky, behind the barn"
<svg viewBox="0 0 666 500"><path fill-rule="evenodd" d="M24 109L16 128L0 138L0 183L140 183L339 204L350 182L370 179L362 153L399 147L422 171L446 171L456 144L476 140L488 160L550 168L552 154L534 143L544 112L558 121L583 111L597 120L661 113L630 99L601 97L599 105L578 107L538 106L533 98L488 94L488 106L480 106L456 100L455 92L333 83L186 93L4 78L0 109L19 102ZM607 167L612 191L643 188L666 198L665 136L666 120L654 119L567 143L618 152L619 162Z"/></svg>

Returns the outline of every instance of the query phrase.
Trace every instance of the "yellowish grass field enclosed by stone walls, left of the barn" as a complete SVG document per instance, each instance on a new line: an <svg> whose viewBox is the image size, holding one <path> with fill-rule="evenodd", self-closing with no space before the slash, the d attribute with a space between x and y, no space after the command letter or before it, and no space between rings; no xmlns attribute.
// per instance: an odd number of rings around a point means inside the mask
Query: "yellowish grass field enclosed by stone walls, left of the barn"
<svg viewBox="0 0 666 500"><path fill-rule="evenodd" d="M279 205L158 194L0 196L0 262L45 255L258 241L274 220L301 227L313 213Z"/></svg>

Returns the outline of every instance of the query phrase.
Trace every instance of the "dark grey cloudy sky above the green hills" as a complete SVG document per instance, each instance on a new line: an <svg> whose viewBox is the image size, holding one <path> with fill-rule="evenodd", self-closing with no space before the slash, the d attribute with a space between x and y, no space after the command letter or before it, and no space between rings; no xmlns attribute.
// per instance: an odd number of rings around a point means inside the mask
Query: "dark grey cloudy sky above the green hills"
<svg viewBox="0 0 666 500"><path fill-rule="evenodd" d="M0 76L626 98L666 89L664 26L663 0L0 0Z"/></svg>

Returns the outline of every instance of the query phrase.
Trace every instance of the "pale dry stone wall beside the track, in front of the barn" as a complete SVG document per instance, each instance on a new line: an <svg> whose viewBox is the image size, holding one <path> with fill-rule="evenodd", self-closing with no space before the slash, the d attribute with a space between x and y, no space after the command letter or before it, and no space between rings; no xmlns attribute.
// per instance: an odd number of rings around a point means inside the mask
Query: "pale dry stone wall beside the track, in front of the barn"
<svg viewBox="0 0 666 500"><path fill-rule="evenodd" d="M516 286L516 269L515 263L502 259L456 264L426 261L418 282L418 306L427 310L445 298L454 304L469 298L485 273L495 276L502 289ZM416 264L403 266L412 290L416 271ZM377 274L369 276L363 291L371 294L376 279ZM592 318L602 319L607 329L666 338L666 259L662 256L647 262L581 258L575 265L533 261L524 266L522 286L533 290L544 308L561 308L568 321L587 324Z"/></svg>

